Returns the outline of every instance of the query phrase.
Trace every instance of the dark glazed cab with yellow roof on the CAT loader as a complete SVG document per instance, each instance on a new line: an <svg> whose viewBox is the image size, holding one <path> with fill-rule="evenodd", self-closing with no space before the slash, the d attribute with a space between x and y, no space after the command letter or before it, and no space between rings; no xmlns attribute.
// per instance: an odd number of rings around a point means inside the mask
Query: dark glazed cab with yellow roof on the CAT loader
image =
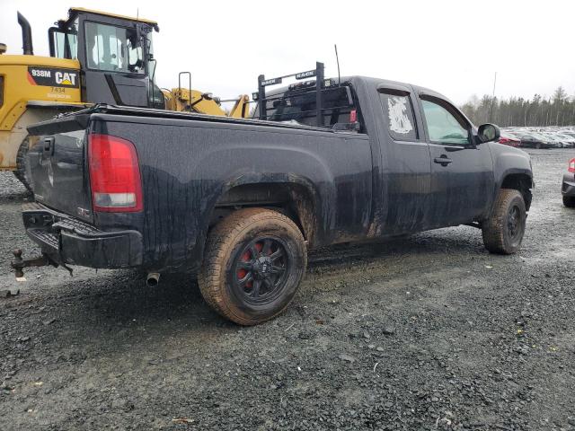
<svg viewBox="0 0 575 431"><path fill-rule="evenodd" d="M154 84L156 22L72 8L56 24L49 29L50 57L80 63L83 101L164 109Z"/></svg>

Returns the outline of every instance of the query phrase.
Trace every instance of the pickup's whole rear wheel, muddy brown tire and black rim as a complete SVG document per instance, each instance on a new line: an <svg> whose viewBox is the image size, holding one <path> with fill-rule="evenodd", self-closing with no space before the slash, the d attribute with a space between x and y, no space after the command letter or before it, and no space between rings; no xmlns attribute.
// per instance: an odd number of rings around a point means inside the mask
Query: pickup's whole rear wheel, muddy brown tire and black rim
<svg viewBox="0 0 575 431"><path fill-rule="evenodd" d="M306 264L304 237L287 216L264 208L241 209L209 233L199 288L221 315L254 325L286 309Z"/></svg>

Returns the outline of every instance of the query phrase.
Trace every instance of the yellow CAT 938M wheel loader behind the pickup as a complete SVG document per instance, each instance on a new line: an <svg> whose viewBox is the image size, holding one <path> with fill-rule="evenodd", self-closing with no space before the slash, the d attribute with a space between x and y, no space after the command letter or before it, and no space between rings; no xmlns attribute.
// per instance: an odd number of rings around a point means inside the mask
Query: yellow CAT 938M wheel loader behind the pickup
<svg viewBox="0 0 575 431"><path fill-rule="evenodd" d="M33 143L26 128L59 112L111 103L234 118L249 114L247 95L226 113L218 98L191 85L182 88L181 79L178 88L160 89L154 80L154 21L71 8L48 31L49 57L34 55L31 26L21 13L18 23L23 55L6 55L0 44L0 170L14 171L28 189L26 154Z"/></svg>

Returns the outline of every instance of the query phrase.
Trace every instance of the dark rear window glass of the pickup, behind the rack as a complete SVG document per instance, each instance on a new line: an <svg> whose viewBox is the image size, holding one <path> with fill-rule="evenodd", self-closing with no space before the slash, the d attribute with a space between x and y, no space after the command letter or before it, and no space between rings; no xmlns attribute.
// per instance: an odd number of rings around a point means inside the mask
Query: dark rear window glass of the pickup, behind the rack
<svg viewBox="0 0 575 431"><path fill-rule="evenodd" d="M293 91L275 95L269 94L266 102L266 117L272 121L295 121L306 126L317 126L315 91ZM349 105L345 87L323 90L323 127L337 123L349 123L349 114L354 110Z"/></svg>

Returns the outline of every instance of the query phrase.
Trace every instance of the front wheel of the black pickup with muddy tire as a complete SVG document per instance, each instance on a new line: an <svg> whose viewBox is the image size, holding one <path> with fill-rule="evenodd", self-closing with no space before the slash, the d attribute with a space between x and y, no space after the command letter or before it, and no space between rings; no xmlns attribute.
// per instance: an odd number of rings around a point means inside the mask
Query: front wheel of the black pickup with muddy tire
<svg viewBox="0 0 575 431"><path fill-rule="evenodd" d="M517 211L517 213L516 213ZM514 223L517 215L517 223ZM511 226L516 226L513 229ZM526 227L523 196L515 189L500 189L491 217L482 223L483 244L491 253L513 254L519 250Z"/></svg>

